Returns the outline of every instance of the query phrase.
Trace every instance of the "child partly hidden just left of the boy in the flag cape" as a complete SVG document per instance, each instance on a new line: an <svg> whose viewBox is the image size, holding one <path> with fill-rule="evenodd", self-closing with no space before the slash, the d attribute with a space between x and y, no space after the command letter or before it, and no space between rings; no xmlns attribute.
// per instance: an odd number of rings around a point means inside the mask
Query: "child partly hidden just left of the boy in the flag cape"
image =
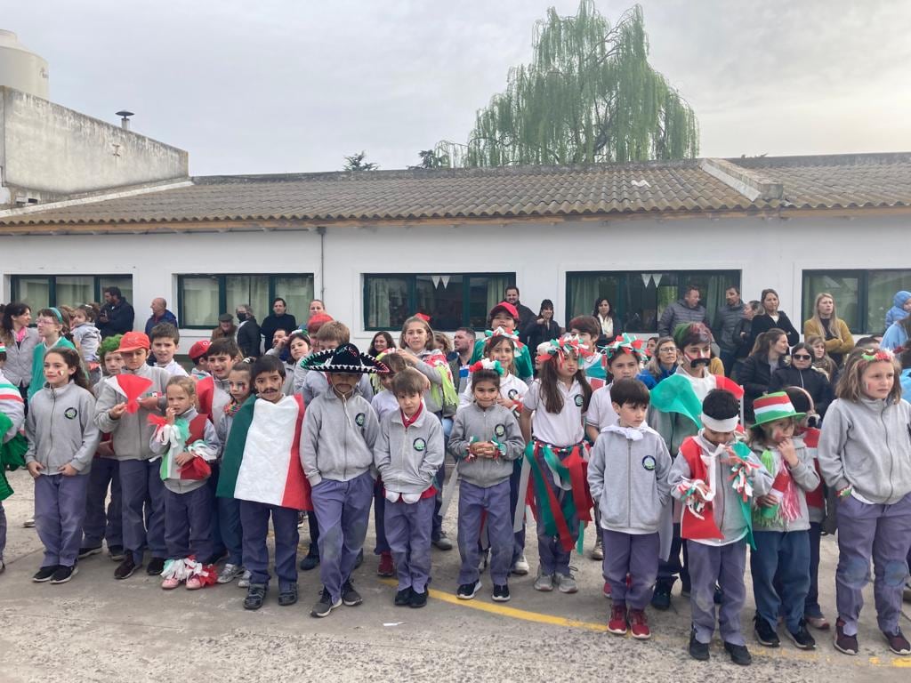
<svg viewBox="0 0 911 683"><path fill-rule="evenodd" d="M282 330L283 331L283 330ZM224 415L217 421L215 433L219 438L222 452L228 443L234 417L241 406L250 398L252 389L252 363L241 361L228 373L230 403L225 406ZM287 377L285 378L287 380ZM240 576L237 587L250 587L250 572L243 567L243 531L241 529L241 504L235 498L217 498L221 542L228 551L228 560L221 567L218 583L228 584Z"/></svg>

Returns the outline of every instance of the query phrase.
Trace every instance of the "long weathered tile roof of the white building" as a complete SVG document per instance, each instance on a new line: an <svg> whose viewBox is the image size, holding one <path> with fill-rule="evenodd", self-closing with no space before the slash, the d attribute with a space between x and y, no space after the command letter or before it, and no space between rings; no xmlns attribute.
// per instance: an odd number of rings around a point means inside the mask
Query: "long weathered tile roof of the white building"
<svg viewBox="0 0 911 683"><path fill-rule="evenodd" d="M66 231L80 225L156 229L158 224L166 229L166 224L213 221L331 225L911 206L911 154L906 153L191 180L184 187L126 192L115 199L0 212L0 232L27 226Z"/></svg>

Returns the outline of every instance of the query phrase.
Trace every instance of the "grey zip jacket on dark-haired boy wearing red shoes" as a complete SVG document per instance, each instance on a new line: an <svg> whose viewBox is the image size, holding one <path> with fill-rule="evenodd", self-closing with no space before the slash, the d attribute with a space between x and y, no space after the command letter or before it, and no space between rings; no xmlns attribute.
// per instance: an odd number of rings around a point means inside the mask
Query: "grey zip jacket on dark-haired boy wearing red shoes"
<svg viewBox="0 0 911 683"><path fill-rule="evenodd" d="M589 461L589 490L601 513L601 528L657 533L670 501L670 464L664 440L647 424L640 429L609 426L601 432Z"/></svg>

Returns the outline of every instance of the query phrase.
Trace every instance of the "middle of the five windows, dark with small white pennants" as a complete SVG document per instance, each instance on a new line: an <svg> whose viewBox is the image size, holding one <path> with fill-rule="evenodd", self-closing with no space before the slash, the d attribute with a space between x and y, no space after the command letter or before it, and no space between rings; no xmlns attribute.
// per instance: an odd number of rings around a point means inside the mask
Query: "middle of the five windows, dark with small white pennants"
<svg viewBox="0 0 911 683"><path fill-rule="evenodd" d="M434 330L483 330L487 311L514 284L516 273L364 275L363 327L396 330L415 313L426 313Z"/></svg>

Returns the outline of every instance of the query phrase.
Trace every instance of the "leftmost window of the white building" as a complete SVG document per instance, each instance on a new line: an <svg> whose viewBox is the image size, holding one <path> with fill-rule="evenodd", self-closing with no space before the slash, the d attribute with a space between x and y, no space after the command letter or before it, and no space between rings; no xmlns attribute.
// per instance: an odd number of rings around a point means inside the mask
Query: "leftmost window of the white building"
<svg viewBox="0 0 911 683"><path fill-rule="evenodd" d="M27 303L33 314L59 304L104 303L106 287L119 287L126 301L133 299L131 275L13 275L10 283L13 301Z"/></svg>

